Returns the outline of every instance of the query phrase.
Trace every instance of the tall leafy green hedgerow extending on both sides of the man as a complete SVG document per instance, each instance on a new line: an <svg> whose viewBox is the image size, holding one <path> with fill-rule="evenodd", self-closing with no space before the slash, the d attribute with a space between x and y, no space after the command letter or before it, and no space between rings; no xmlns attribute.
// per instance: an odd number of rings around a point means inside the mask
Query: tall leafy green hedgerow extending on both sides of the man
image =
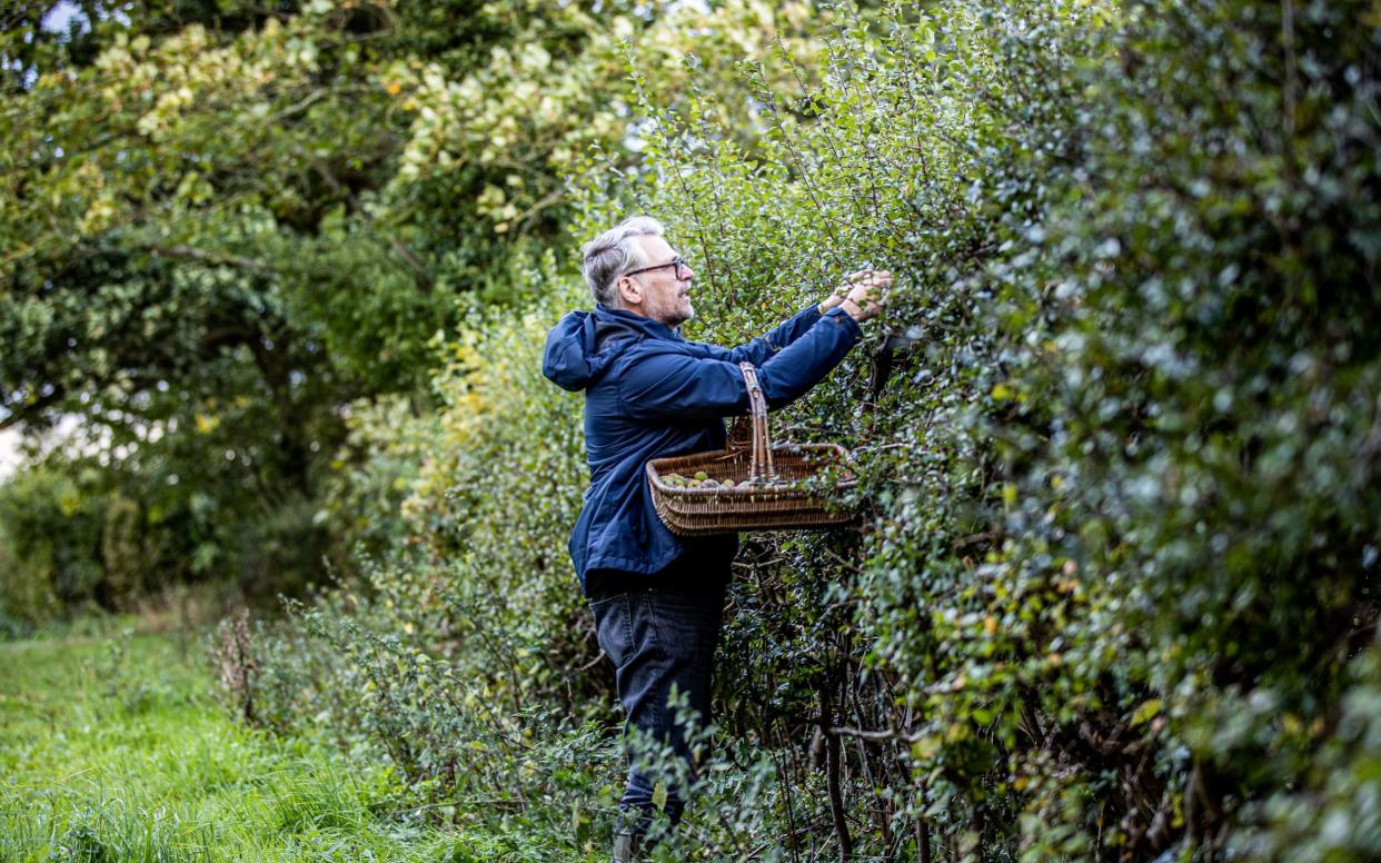
<svg viewBox="0 0 1381 863"><path fill-rule="evenodd" d="M789 51L743 66L750 144L695 58L673 112L630 55L642 163L577 180L577 233L670 225L692 338L736 342L860 266L898 275L865 342L773 417L851 446L863 516L746 537L720 755L663 853L1381 853L1381 19L974 0L831 21L790 95L769 83ZM305 619L395 663L394 686L443 660L493 728L610 718L563 552L580 400L537 370L584 300L548 269L442 345L443 409L389 429L416 461L366 453L366 482L407 493L370 514L398 527L367 613ZM450 708L348 683L322 695L385 747L465 746L432 733Z"/></svg>

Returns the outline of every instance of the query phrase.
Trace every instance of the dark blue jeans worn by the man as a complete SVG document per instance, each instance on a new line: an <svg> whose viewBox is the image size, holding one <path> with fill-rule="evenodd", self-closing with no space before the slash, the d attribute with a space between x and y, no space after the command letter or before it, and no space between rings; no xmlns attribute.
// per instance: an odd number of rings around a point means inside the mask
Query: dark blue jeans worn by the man
<svg viewBox="0 0 1381 863"><path fill-rule="evenodd" d="M689 696L700 725L710 722L710 679L714 650L720 643L724 613L722 580L695 590L634 588L594 598L599 646L617 668L619 700L627 712L627 733L642 729L659 741L670 743L692 773L695 764L686 746L685 728L677 725L675 710L667 707L671 688ZM619 804L620 828L645 833L656 806L652 794L657 776L646 776L628 759L628 787ZM675 824L685 799L675 783L667 782L666 812Z"/></svg>

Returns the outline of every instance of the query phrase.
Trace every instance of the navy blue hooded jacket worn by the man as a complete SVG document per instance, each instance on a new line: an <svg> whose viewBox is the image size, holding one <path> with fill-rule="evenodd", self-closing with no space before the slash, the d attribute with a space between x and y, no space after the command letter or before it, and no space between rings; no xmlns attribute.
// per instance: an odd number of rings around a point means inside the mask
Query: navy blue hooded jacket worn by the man
<svg viewBox="0 0 1381 863"><path fill-rule="evenodd" d="M818 384L860 334L844 309L822 316L815 305L733 349L686 341L621 309L562 318L547 334L543 373L565 389L586 391L590 487L570 534L581 588L594 569L650 576L688 551L732 558L736 537L681 540L667 530L645 465L724 447L722 417L749 411L739 362L757 366L768 407L782 407Z"/></svg>

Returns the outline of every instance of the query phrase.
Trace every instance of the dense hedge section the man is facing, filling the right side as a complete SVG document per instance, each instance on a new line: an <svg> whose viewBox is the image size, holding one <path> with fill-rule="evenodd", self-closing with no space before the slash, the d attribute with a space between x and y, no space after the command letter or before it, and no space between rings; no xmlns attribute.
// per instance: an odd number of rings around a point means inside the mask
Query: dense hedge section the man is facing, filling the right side
<svg viewBox="0 0 1381 863"><path fill-rule="evenodd" d="M783 284L903 273L884 331L786 421L855 445L862 541L744 561L725 652L762 739L819 717L882 744L827 768L871 823L836 819L841 845L900 853L911 823L940 855L1210 857L1244 801L1311 775L1375 632L1364 15L859 22L816 122L775 119L758 160L644 97L656 171L628 196L703 260L697 334L761 329Z"/></svg>

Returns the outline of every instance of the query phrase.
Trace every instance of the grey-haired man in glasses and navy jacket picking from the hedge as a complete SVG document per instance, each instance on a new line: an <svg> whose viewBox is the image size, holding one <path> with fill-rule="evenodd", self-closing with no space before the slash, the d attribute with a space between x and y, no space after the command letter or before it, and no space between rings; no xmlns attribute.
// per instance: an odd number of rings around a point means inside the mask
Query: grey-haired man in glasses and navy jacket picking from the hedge
<svg viewBox="0 0 1381 863"><path fill-rule="evenodd" d="M586 392L590 487L570 536L570 558L594 612L599 646L617 667L627 726L670 741L689 761L685 729L667 708L673 688L710 721L710 677L720 639L735 534L682 540L657 519L646 486L649 460L722 449L722 417L749 410L737 363L751 362L768 407L805 394L859 340L878 312L887 272L851 284L771 333L733 349L690 342L678 327L693 315L695 272L661 225L630 218L584 247L592 312L572 312L547 337L543 371ZM656 777L630 758L615 860L638 853ZM675 823L685 801L668 788Z"/></svg>

